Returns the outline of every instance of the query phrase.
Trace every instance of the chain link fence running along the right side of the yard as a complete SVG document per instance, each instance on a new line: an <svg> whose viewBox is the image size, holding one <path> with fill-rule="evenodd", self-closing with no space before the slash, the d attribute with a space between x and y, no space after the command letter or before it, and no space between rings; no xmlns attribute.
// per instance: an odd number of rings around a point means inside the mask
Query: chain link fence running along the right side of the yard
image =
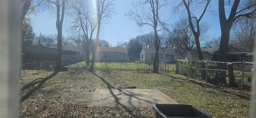
<svg viewBox="0 0 256 118"><path fill-rule="evenodd" d="M203 78L206 82L224 83L230 87L250 88L252 72L251 62L218 62L178 60L176 73L187 78ZM203 75L203 76L202 76Z"/></svg>

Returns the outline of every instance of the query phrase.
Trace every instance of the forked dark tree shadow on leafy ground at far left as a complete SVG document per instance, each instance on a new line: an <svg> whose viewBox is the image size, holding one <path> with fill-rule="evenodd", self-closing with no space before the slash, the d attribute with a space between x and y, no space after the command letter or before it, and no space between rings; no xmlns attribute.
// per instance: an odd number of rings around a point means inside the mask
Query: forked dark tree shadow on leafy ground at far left
<svg viewBox="0 0 256 118"><path fill-rule="evenodd" d="M31 89L24 96L22 96L22 98L20 99L21 102L23 102L24 100L29 98L34 92L36 92L36 90L38 90L40 87L42 87L46 81L48 81L49 79L51 79L52 77L57 75L57 73L58 72L54 72L51 75L49 75L48 77L35 79L32 82L28 83L27 85L23 86L21 88L21 92L24 90L30 89L30 88ZM38 80L40 80L40 81L38 81ZM36 84L38 84L38 85L36 87L34 87Z"/></svg>

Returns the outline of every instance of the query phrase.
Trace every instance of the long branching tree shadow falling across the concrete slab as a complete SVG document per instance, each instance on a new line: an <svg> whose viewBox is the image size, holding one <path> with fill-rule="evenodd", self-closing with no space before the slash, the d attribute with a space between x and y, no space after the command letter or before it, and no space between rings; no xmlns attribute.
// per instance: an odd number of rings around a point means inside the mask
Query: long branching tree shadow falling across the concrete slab
<svg viewBox="0 0 256 118"><path fill-rule="evenodd" d="M138 116L137 114L134 114L132 112L132 110L130 110L127 106L125 106L124 104L120 103L119 101L119 98L114 94L113 92L113 88L112 85L110 85L110 83L108 83L105 79L103 79L102 77L98 76L96 73L93 73L93 75L95 75L96 77L98 77L99 79L101 79L101 81L103 81L107 86L108 86L108 89L110 90L110 93L112 94L112 96L114 97L115 101L117 102L118 105L122 106L129 114L131 114L132 116L134 116L135 118L148 118L146 116ZM124 94L127 94L125 93L124 91L122 91L121 89L117 89L119 90L120 92L124 93ZM129 94L127 94L129 95Z"/></svg>

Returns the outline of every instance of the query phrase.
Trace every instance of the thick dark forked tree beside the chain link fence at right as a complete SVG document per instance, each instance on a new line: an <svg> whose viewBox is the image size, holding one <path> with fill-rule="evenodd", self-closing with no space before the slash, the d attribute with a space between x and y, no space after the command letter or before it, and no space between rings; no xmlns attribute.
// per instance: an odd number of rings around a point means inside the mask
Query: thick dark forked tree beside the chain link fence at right
<svg viewBox="0 0 256 118"><path fill-rule="evenodd" d="M224 0L219 0L219 18L220 18L220 47L218 52L218 61L227 62L228 57L228 43L230 38L230 30L232 28L233 23L238 20L240 17L251 18L255 15L256 11L256 2L255 0L246 0L240 4L240 0L234 0L225 2ZM226 4L225 4L226 3ZM238 7L240 4L240 7ZM229 10L228 8L231 6ZM230 11L228 19L226 18L226 12ZM217 68L221 70L226 70L226 64L218 63ZM226 71L216 71L214 77L215 83L227 84L226 82Z"/></svg>

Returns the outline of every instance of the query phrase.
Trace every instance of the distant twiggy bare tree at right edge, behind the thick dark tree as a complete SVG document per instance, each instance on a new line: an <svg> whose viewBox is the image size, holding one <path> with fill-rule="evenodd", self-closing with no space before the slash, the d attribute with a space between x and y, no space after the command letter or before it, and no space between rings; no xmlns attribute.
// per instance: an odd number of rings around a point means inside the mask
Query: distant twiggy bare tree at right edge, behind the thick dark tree
<svg viewBox="0 0 256 118"><path fill-rule="evenodd" d="M241 18L237 21L231 29L230 45L242 52L252 52L255 26L255 18Z"/></svg>

